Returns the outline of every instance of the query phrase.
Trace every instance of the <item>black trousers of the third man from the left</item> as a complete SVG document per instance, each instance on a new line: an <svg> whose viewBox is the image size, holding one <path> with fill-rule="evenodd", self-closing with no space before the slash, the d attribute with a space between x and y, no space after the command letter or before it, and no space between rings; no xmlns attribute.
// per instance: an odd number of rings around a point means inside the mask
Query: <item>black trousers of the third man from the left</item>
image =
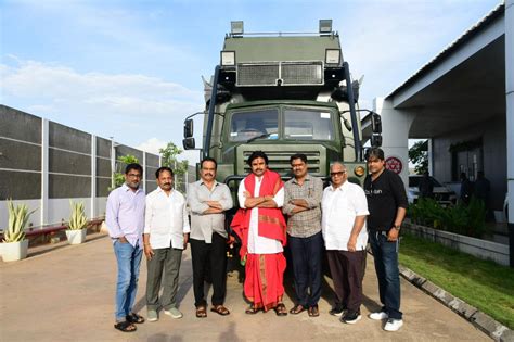
<svg viewBox="0 0 514 342"><path fill-rule="evenodd" d="M213 305L221 305L227 293L227 239L213 232L211 243L190 239L193 262L194 305L206 305L204 282L213 283Z"/></svg>

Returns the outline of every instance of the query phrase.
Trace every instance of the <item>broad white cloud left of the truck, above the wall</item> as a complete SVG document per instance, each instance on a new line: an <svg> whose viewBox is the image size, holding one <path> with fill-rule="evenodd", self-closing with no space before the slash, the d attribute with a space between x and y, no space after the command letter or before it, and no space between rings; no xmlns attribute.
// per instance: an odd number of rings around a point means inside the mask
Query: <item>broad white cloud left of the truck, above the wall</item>
<svg viewBox="0 0 514 342"><path fill-rule="evenodd" d="M0 64L0 76L1 103L132 145L146 137L179 145L184 117L204 106L202 92L144 75L21 61Z"/></svg>

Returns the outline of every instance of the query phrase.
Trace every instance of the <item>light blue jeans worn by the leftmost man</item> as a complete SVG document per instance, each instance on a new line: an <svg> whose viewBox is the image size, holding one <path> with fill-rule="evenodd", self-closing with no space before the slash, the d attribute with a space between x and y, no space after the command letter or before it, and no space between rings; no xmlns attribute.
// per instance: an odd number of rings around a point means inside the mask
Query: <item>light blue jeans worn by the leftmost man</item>
<svg viewBox="0 0 514 342"><path fill-rule="evenodd" d="M114 242L114 253L118 263L116 282L116 321L126 319L132 312L136 292L138 291L139 266L143 250L130 243Z"/></svg>

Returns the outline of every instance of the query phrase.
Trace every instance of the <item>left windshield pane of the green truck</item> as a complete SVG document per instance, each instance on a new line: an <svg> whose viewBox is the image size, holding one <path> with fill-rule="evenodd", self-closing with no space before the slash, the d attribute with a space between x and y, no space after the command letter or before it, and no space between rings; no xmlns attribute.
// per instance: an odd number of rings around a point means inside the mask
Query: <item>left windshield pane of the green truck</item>
<svg viewBox="0 0 514 342"><path fill-rule="evenodd" d="M268 139L277 139L278 134L278 109L241 112L232 115L230 141L247 141L265 135L268 135Z"/></svg>

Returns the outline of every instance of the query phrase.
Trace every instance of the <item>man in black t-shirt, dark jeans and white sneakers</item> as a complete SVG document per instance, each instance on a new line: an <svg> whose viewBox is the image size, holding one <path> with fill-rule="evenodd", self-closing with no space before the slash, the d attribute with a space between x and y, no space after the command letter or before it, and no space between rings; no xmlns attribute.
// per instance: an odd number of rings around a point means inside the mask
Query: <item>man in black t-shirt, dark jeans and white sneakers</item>
<svg viewBox="0 0 514 342"><path fill-rule="evenodd" d="M403 325L400 312L400 277L398 270L398 236L406 217L407 194L401 178L385 168L384 151L372 148L367 153L370 175L364 180L368 199L368 231L375 261L382 309L371 319L387 319L386 331Z"/></svg>

